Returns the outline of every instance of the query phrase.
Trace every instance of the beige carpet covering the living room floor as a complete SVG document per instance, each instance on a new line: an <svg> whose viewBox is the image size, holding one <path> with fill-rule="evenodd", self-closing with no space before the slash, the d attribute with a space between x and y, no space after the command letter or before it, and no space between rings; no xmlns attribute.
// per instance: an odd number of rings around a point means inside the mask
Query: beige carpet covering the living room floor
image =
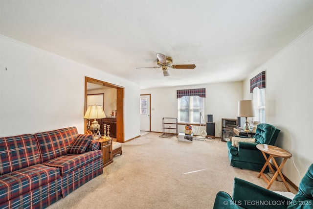
<svg viewBox="0 0 313 209"><path fill-rule="evenodd" d="M149 133L124 143L123 155L101 176L48 209L211 209L218 191L232 194L234 177L267 186L258 172L230 166L226 143L219 139L182 142L159 136ZM287 191L277 181L270 189Z"/></svg>

